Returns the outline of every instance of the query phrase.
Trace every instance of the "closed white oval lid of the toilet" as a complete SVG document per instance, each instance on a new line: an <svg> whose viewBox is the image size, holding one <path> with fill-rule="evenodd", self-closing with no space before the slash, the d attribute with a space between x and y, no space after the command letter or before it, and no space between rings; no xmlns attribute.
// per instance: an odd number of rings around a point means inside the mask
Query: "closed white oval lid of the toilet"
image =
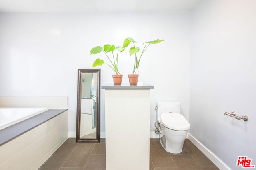
<svg viewBox="0 0 256 170"><path fill-rule="evenodd" d="M180 113L162 113L161 120L165 127L176 131L185 131L190 128L190 124Z"/></svg>

